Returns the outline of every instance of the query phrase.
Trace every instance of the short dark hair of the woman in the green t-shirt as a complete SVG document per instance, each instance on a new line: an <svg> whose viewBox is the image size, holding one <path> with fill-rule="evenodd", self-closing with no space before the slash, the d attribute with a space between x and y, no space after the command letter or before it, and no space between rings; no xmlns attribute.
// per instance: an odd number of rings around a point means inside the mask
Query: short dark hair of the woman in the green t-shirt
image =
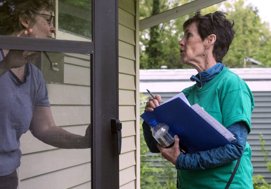
<svg viewBox="0 0 271 189"><path fill-rule="evenodd" d="M235 22L227 19L226 15L225 12L216 11L203 16L200 11L197 11L192 18L186 20L183 24L183 31L185 31L188 25L195 22L202 40L211 34L216 35L213 56L217 62L222 62L222 58L227 54L235 35L233 29Z"/></svg>

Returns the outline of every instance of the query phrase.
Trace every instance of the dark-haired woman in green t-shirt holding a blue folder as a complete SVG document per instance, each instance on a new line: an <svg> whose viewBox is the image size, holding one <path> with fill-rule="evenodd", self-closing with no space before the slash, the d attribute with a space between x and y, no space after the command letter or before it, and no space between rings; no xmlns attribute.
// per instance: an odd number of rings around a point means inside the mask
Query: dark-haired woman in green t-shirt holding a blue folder
<svg viewBox="0 0 271 189"><path fill-rule="evenodd" d="M236 139L215 149L182 154L177 135L173 147L163 148L152 137L148 124L143 123L150 151L161 152L176 166L179 188L225 188L230 184L235 167L238 169L230 188L253 188L251 148L246 140L251 131L254 99L247 84L222 64L235 34L234 22L226 19L225 14L221 11L206 15L196 12L183 24L184 38L179 42L181 60L195 68L198 74L190 78L196 84L182 92L190 104L198 103ZM150 98L145 110L153 111L161 101L159 95ZM238 159L240 164L236 166Z"/></svg>

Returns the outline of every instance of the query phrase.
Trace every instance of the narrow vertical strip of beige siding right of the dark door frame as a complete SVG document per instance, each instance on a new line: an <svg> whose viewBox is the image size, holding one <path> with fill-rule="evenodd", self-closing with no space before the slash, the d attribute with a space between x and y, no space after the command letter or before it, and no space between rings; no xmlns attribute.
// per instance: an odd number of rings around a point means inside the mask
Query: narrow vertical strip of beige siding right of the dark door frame
<svg viewBox="0 0 271 189"><path fill-rule="evenodd" d="M136 1L119 0L120 188L136 186Z"/></svg>

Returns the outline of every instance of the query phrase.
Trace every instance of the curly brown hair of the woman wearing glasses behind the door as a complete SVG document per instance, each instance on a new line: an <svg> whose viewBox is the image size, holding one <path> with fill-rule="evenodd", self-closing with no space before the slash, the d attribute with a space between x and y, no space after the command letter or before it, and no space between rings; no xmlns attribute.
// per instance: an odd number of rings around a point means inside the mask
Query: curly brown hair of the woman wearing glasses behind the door
<svg viewBox="0 0 271 189"><path fill-rule="evenodd" d="M45 8L53 12L53 0L2 0L0 2L0 35L10 35L14 31L25 29L19 16L35 23L35 14Z"/></svg>

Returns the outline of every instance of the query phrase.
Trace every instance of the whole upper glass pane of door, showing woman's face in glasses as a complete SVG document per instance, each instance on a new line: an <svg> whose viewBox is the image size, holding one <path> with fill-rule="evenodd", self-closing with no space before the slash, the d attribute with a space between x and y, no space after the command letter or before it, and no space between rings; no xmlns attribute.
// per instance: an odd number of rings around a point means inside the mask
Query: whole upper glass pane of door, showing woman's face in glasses
<svg viewBox="0 0 271 189"><path fill-rule="evenodd" d="M91 41L91 9L91 0L0 0L0 35Z"/></svg>

